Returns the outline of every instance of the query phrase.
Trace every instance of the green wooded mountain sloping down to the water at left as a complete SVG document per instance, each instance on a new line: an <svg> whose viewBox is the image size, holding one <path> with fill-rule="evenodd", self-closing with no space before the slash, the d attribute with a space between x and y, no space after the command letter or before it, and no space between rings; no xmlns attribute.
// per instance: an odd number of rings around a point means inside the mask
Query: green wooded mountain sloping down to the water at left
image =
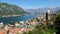
<svg viewBox="0 0 60 34"><path fill-rule="evenodd" d="M8 3L0 3L0 16L1 15L17 15L17 14L26 14L21 7Z"/></svg>

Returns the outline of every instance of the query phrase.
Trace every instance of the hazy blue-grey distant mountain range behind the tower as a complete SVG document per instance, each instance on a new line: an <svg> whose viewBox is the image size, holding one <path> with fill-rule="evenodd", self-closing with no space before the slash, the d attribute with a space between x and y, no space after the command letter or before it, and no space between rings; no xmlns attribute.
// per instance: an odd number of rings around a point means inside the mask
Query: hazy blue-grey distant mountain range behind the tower
<svg viewBox="0 0 60 34"><path fill-rule="evenodd" d="M29 12L31 14L45 14L47 10L50 10L51 13L56 13L58 10L60 10L60 7L56 7L56 8L38 8L38 9L26 9L26 12Z"/></svg>

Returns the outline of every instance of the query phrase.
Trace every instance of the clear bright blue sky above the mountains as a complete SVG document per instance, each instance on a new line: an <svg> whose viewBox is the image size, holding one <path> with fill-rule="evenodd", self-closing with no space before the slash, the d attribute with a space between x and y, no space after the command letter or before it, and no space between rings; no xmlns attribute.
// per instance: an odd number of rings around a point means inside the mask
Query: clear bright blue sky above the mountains
<svg viewBox="0 0 60 34"><path fill-rule="evenodd" d="M60 0L0 0L0 2L17 5L23 9L60 7Z"/></svg>

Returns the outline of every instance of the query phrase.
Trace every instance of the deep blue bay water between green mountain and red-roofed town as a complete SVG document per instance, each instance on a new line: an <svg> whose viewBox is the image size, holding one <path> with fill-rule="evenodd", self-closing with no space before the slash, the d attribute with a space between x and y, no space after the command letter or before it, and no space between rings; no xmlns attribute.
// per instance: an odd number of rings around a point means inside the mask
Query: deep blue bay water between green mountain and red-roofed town
<svg viewBox="0 0 60 34"><path fill-rule="evenodd" d="M3 18L0 18L0 22L3 22L4 24L8 24L10 22L26 21L34 17L35 15L33 14L26 14L26 15L15 16L15 17L3 17Z"/></svg>

